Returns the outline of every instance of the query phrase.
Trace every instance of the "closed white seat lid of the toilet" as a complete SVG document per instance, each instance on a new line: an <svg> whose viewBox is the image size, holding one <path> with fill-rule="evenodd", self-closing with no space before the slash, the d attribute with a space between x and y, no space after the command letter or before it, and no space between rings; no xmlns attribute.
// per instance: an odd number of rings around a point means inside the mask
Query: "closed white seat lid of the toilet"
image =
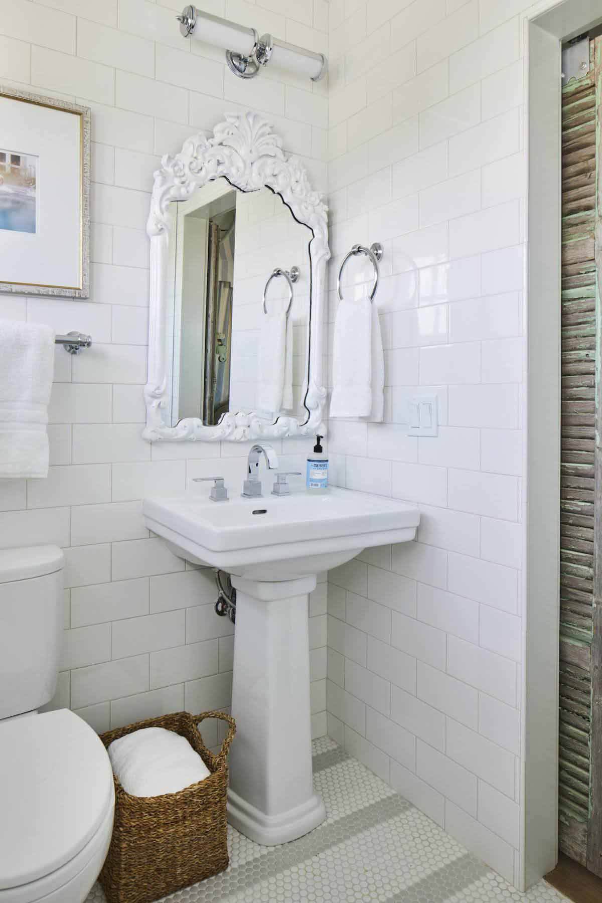
<svg viewBox="0 0 602 903"><path fill-rule="evenodd" d="M91 727L68 709L0 723L0 889L64 865L113 805L113 771Z"/></svg>

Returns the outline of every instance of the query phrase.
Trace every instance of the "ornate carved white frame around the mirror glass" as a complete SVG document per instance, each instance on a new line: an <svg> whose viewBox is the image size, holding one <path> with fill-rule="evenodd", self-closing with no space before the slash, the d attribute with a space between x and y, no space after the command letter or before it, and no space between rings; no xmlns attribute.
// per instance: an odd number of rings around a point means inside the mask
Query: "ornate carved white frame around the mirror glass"
<svg viewBox="0 0 602 903"><path fill-rule="evenodd" d="M215 426L186 417L175 426L162 420L168 384L168 245L171 201L187 200L207 182L224 177L240 191L264 187L279 194L292 215L313 232L310 239L310 335L306 417L279 416L272 424L254 412L224 414ZM302 163L282 152L282 140L272 126L253 112L226 114L213 137L192 135L180 154L162 157L154 174L151 211L146 231L151 239L148 375L144 387L149 442L244 442L259 436L282 438L320 433L326 389L322 386L323 330L326 309L326 263L329 259L327 208L313 191ZM261 299L258 299L258 303Z"/></svg>

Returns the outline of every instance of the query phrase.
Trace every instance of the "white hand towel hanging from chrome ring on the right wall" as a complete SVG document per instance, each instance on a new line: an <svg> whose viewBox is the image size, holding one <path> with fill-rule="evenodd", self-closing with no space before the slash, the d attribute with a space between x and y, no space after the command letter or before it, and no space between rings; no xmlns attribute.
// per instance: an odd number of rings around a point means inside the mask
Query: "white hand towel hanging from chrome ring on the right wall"
<svg viewBox="0 0 602 903"><path fill-rule="evenodd" d="M338 304L332 352L331 417L384 416L384 353L378 310L367 289Z"/></svg>

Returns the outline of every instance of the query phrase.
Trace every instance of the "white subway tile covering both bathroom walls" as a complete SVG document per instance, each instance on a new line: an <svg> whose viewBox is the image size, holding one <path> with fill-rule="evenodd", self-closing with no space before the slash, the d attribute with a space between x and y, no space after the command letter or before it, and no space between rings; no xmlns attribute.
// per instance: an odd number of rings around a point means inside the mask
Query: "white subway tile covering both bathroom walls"
<svg viewBox="0 0 602 903"><path fill-rule="evenodd" d="M207 571L145 530L147 493L233 484L242 446L147 445L153 170L225 111L263 111L329 189L329 347L338 265L382 241L384 424L329 424L330 475L418 503L417 542L369 550L310 599L312 731L327 730L508 880L521 873L525 157L519 15L530 0L207 0L201 8L329 52L329 85L241 82L184 42L171 0L0 0L0 77L92 107L89 302L6 298L3 315L88 330L57 350L49 479L0 482L0 545L67 550L53 704L97 731L227 708L233 628ZM328 128L327 128L328 126ZM326 163L328 164L328 172ZM349 290L369 278L350 266ZM408 437L436 395L440 433ZM286 463L304 448L278 444ZM215 461L218 457L219 461ZM322 575L322 581L326 575ZM327 649L328 631L328 649ZM215 740L217 742L217 732Z"/></svg>

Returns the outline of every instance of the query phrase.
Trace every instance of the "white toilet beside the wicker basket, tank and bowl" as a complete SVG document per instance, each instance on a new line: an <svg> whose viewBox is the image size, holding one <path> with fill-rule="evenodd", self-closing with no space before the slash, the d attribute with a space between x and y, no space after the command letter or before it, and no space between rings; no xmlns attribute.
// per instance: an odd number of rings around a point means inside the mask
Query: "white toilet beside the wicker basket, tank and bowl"
<svg viewBox="0 0 602 903"><path fill-rule="evenodd" d="M97 734L54 695L64 556L0 551L0 903L83 903L111 840L113 773Z"/></svg>

